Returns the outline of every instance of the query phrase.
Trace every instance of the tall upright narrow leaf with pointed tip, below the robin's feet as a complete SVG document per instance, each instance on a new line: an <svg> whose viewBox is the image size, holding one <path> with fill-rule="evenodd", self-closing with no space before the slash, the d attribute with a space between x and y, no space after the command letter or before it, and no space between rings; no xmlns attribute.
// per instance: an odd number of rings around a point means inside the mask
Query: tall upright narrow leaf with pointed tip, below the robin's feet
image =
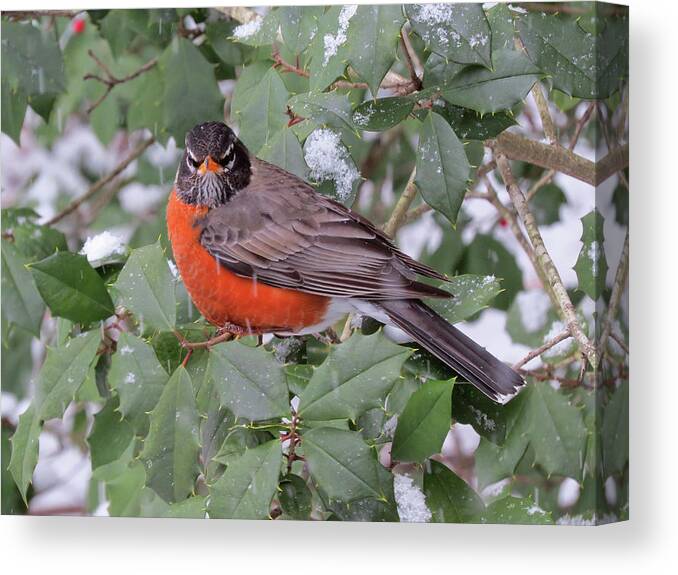
<svg viewBox="0 0 678 575"><path fill-rule="evenodd" d="M193 491L198 475L198 410L188 373L179 367L150 413L150 430L140 458L147 485L165 501L180 501Z"/></svg>

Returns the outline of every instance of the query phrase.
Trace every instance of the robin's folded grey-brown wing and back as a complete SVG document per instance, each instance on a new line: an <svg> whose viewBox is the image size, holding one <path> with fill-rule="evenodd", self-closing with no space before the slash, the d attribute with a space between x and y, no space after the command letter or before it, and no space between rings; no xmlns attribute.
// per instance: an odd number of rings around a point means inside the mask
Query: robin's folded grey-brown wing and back
<svg viewBox="0 0 678 575"><path fill-rule="evenodd" d="M293 174L252 160L250 184L210 210L200 241L221 265L266 284L367 300L450 297L445 276L398 250L358 214Z"/></svg>

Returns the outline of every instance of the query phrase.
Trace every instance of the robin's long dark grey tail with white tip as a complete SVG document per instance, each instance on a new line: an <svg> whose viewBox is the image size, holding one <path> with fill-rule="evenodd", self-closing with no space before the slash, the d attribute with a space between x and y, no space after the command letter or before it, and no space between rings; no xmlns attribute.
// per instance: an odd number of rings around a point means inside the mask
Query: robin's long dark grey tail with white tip
<svg viewBox="0 0 678 575"><path fill-rule="evenodd" d="M378 306L395 326L494 401L506 403L525 385L513 369L419 300L380 301Z"/></svg>

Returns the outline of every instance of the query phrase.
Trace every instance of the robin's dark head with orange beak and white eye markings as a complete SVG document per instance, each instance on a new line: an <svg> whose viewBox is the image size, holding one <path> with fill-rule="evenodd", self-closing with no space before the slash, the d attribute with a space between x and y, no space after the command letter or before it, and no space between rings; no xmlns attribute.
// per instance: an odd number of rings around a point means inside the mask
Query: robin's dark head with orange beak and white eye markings
<svg viewBox="0 0 678 575"><path fill-rule="evenodd" d="M198 124L186 135L175 187L186 204L216 208L247 186L249 153L226 124Z"/></svg>

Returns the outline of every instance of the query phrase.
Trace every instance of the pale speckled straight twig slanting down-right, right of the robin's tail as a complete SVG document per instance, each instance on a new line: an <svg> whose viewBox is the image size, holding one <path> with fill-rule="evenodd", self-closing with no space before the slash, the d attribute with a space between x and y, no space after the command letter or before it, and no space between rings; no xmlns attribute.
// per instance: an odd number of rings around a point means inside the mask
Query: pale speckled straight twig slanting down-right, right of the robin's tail
<svg viewBox="0 0 678 575"><path fill-rule="evenodd" d="M568 331L577 341L579 348L586 355L589 363L593 367L596 367L598 365L596 348L591 344L589 338L579 325L577 314L575 313L570 296L563 285L563 280L560 277L558 268L556 268L551 256L546 250L537 222L527 205L523 191L520 189L520 186L518 186L513 172L511 171L508 158L501 152L495 153L495 158L499 172L501 173L504 183L506 184L506 189L511 197L511 201L525 225L525 230L527 231L527 235L534 248L538 266L541 268L541 272L544 274L544 277L551 287L551 296L554 300L553 303L558 308L563 321L567 325Z"/></svg>

